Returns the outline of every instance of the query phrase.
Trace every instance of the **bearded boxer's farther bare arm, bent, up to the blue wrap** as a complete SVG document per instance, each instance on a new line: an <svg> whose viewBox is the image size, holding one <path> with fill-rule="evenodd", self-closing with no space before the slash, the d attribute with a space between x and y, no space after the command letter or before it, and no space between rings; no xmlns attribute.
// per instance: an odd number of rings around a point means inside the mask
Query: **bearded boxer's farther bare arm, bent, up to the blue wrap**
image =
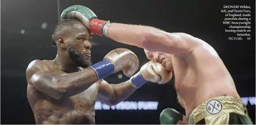
<svg viewBox="0 0 256 125"><path fill-rule="evenodd" d="M105 80L101 80L97 100L112 106L130 97L134 91L136 88L133 87L130 80L119 84L109 84Z"/></svg>

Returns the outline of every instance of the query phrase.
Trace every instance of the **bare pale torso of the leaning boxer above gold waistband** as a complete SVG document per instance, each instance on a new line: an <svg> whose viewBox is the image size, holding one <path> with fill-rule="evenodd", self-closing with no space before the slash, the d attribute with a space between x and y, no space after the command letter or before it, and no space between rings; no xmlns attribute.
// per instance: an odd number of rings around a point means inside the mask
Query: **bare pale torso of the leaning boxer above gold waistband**
<svg viewBox="0 0 256 125"><path fill-rule="evenodd" d="M219 95L239 97L229 71L208 43L184 57L172 56L172 63L175 88L188 108L186 112Z"/></svg>

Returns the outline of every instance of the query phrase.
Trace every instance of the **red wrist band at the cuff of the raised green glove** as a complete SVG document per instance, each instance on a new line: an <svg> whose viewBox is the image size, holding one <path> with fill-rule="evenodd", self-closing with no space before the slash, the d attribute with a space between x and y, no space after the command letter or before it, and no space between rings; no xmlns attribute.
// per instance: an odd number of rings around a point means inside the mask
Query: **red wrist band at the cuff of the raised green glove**
<svg viewBox="0 0 256 125"><path fill-rule="evenodd" d="M102 28L107 23L110 23L110 21L100 20L100 19L92 19L89 22L89 30L93 34L97 34L99 36L103 36Z"/></svg>

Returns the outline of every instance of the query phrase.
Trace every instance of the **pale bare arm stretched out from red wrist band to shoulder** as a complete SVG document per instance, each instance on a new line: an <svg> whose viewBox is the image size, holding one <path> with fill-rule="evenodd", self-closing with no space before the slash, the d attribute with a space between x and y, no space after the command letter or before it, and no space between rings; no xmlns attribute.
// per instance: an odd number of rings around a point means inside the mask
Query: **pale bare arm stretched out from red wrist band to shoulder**
<svg viewBox="0 0 256 125"><path fill-rule="evenodd" d="M168 54L190 53L201 41L186 33L168 33L150 26L118 23L109 25L108 37L152 52Z"/></svg>

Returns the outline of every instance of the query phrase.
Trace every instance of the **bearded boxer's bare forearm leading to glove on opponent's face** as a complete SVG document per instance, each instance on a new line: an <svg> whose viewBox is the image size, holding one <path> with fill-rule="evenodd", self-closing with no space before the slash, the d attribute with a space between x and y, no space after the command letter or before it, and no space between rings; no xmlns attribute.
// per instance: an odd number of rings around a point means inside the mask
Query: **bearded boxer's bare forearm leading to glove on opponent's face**
<svg viewBox="0 0 256 125"><path fill-rule="evenodd" d="M132 86L130 80L120 84L110 84L113 88L113 99L111 104L116 105L121 101L126 100L133 94L137 89Z"/></svg>

